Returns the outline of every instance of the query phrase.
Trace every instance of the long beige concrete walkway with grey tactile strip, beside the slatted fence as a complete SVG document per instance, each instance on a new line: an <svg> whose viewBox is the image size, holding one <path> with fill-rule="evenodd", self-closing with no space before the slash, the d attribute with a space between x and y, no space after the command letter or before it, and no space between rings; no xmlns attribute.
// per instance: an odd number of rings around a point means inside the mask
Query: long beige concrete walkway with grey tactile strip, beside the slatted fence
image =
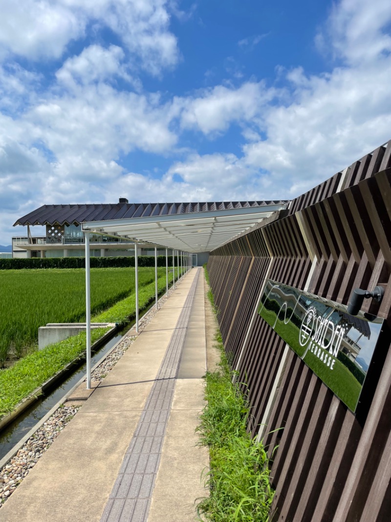
<svg viewBox="0 0 391 522"><path fill-rule="evenodd" d="M193 268L0 509L1 522L190 522L209 464L197 446L204 279Z"/></svg>

